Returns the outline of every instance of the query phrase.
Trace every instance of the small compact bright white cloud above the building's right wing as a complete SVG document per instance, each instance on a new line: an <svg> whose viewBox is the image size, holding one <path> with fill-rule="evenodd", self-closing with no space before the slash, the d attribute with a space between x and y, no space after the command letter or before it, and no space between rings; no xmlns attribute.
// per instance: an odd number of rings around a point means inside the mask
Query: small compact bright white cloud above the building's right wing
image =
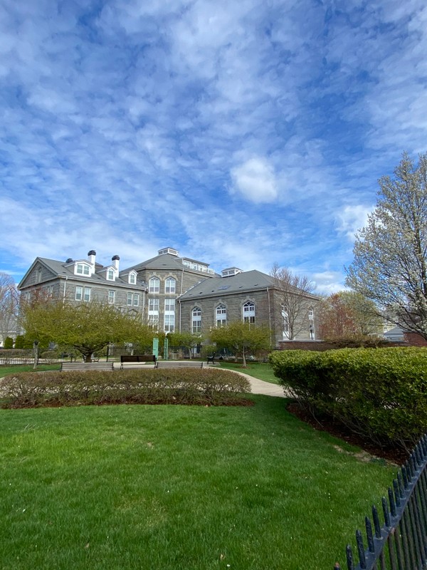
<svg viewBox="0 0 427 570"><path fill-rule="evenodd" d="M273 166L263 157L253 157L231 170L232 192L255 204L274 202L278 185Z"/></svg>

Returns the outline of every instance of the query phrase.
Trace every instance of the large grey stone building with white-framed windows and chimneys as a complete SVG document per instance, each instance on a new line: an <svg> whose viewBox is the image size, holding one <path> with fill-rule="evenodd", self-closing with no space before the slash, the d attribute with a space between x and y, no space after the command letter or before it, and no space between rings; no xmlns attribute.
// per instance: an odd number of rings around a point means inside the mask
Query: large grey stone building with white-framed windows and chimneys
<svg viewBox="0 0 427 570"><path fill-rule="evenodd" d="M122 311L136 311L142 321L165 332L186 331L208 334L213 326L242 320L268 326L277 344L289 337L288 314L273 277L260 271L237 267L216 273L204 261L180 257L172 247L156 257L120 271L120 258L97 263L96 253L88 259L56 261L36 257L18 286L21 299L37 297L68 299L83 303L96 299ZM315 295L304 297L297 340L316 336Z"/></svg>

